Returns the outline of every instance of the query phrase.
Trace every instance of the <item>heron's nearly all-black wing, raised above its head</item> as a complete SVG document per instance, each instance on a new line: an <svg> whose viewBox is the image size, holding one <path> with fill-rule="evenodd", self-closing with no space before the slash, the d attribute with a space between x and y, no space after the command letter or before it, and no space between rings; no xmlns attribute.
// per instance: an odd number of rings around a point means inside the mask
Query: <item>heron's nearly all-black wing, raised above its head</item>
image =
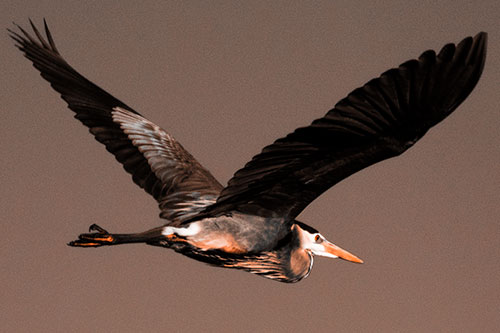
<svg viewBox="0 0 500 333"><path fill-rule="evenodd" d="M342 179L411 147L470 94L487 35L424 52L351 92L323 118L265 147L204 214L296 217Z"/></svg>

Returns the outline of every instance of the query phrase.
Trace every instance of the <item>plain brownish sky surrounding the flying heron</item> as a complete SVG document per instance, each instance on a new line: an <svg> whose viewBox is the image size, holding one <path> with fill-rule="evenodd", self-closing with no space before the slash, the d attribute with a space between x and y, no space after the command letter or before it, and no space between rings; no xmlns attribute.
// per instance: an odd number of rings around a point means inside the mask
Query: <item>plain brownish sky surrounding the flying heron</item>
<svg viewBox="0 0 500 333"><path fill-rule="evenodd" d="M299 219L365 260L282 284L144 245L66 246L156 202L0 37L0 331L491 332L500 326L500 2L2 1L222 182L260 149L427 49L489 32L460 108Z"/></svg>

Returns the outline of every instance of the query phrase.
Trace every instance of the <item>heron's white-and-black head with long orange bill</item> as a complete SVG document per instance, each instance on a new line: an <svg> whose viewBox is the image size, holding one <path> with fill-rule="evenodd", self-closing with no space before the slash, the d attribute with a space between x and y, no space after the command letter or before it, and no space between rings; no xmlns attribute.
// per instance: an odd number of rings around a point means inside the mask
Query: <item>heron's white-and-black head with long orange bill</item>
<svg viewBox="0 0 500 333"><path fill-rule="evenodd" d="M363 263L363 260L354 254L327 241L316 229L307 224L295 221L294 228L300 241L300 247L311 254L328 258L341 258L359 264Z"/></svg>

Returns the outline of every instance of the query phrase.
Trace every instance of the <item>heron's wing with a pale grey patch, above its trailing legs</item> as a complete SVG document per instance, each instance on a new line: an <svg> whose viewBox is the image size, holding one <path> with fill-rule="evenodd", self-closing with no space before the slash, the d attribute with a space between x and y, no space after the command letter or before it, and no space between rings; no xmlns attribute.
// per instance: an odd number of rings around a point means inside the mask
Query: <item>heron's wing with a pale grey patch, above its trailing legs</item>
<svg viewBox="0 0 500 333"><path fill-rule="evenodd" d="M167 132L75 71L59 54L44 20L45 40L18 26L17 47L61 94L75 118L115 155L133 181L159 203L162 218L180 223L215 202L222 186Z"/></svg>

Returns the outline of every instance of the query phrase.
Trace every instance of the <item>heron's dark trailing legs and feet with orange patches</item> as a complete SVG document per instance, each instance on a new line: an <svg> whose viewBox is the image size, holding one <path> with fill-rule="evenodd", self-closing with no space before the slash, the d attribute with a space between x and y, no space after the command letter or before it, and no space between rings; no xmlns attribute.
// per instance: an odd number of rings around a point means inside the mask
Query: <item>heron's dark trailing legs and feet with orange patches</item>
<svg viewBox="0 0 500 333"><path fill-rule="evenodd" d="M77 240L68 243L73 247L99 247L128 243L152 243L161 238L159 229L152 229L136 234L110 234L97 224L89 227L90 233L81 234Z"/></svg>

